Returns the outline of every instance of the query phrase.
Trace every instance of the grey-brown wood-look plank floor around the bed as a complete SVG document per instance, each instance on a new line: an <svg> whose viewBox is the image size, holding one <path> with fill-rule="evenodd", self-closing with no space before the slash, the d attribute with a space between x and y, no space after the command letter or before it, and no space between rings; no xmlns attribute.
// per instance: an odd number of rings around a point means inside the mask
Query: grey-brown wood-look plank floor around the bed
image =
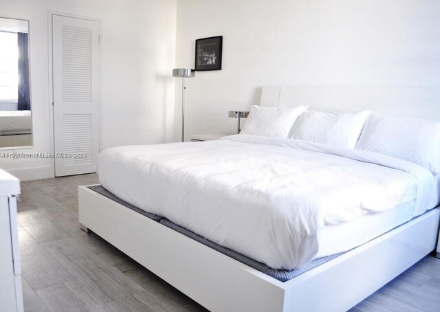
<svg viewBox="0 0 440 312"><path fill-rule="evenodd" d="M80 231L76 187L94 183L96 175L21 183L25 311L206 311L96 234ZM440 311L440 259L427 256L352 311Z"/></svg>

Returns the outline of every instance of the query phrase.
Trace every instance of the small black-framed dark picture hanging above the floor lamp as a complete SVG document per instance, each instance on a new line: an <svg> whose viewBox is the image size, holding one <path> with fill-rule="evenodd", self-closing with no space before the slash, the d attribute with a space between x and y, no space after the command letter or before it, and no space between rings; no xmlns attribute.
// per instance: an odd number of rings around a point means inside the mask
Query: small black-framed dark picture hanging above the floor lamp
<svg viewBox="0 0 440 312"><path fill-rule="evenodd" d="M195 70L220 70L223 36L201 38L195 41Z"/></svg>

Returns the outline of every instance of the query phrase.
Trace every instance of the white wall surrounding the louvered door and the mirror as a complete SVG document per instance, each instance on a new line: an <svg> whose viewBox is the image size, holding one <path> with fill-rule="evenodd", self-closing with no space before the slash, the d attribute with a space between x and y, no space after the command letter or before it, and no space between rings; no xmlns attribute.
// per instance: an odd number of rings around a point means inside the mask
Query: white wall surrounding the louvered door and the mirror
<svg viewBox="0 0 440 312"><path fill-rule="evenodd" d="M30 21L34 148L50 152L49 10L101 20L101 147L173 138L176 0L0 0L0 15ZM0 151L0 153L3 151ZM52 177L52 159L1 159L21 179Z"/></svg>

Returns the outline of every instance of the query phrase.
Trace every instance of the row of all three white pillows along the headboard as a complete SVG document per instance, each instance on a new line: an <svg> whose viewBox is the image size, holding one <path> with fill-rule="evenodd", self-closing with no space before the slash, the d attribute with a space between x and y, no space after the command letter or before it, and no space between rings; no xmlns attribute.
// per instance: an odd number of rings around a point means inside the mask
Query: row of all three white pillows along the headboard
<svg viewBox="0 0 440 312"><path fill-rule="evenodd" d="M411 161L440 174L440 122L372 113L252 106L243 134L331 144Z"/></svg>

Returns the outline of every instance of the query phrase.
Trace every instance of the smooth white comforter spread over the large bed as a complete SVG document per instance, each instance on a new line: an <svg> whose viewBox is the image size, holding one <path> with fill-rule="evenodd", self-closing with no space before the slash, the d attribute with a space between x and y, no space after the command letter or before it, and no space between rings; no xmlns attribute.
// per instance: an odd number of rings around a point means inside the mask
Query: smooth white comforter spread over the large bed
<svg viewBox="0 0 440 312"><path fill-rule="evenodd" d="M312 260L327 224L437 200L433 175L408 161L252 135L110 148L98 175L124 201L276 269Z"/></svg>

